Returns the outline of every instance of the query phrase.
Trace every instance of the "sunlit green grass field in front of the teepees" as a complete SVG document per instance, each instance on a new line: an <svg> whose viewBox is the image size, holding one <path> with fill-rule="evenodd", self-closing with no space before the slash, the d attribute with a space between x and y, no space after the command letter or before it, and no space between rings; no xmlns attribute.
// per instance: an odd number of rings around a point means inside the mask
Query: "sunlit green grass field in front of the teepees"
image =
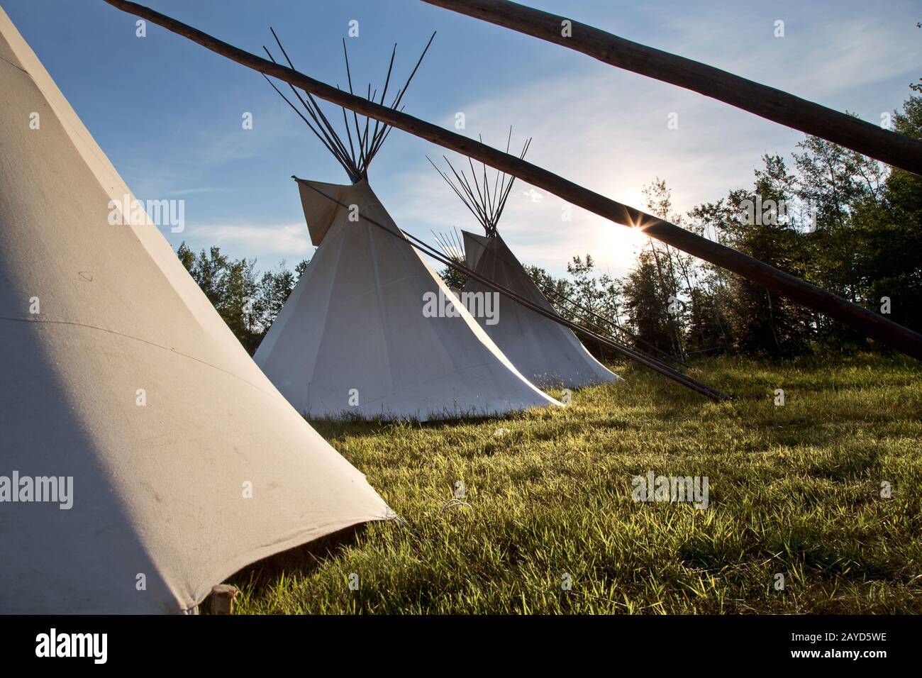
<svg viewBox="0 0 922 678"><path fill-rule="evenodd" d="M313 422L407 526L231 578L239 613L922 613L918 363L699 363L724 403L616 369L566 409ZM651 470L706 476L710 506L633 501Z"/></svg>

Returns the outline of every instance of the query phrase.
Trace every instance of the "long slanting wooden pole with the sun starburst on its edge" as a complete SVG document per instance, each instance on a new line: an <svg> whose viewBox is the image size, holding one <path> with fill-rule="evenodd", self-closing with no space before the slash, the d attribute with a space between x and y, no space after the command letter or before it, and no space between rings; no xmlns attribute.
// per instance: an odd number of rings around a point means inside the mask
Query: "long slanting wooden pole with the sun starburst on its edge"
<svg viewBox="0 0 922 678"><path fill-rule="evenodd" d="M559 196L573 205L585 208L600 217L627 226L638 227L657 240L709 261L716 266L727 268L743 278L757 282L794 302L828 315L848 327L852 327L866 337L877 339L898 351L911 355L917 360L922 360L922 335L897 325L882 315L872 313L868 309L857 305L857 303L851 303L842 297L811 285L809 282L795 278L784 271L753 259L751 256L740 254L734 249L714 243L668 221L657 219L639 209L622 205L611 198L600 196L579 184L573 184L573 182L553 172L548 172L537 165L516 158L514 155L492 149L474 139L455 134L455 132L450 132L438 125L432 125L419 118L414 118L407 113L400 113L373 101L354 96L341 89L327 85L325 82L314 80L313 77L305 76L291 68L274 64L255 54L244 52L227 42L221 42L201 30L196 30L148 7L127 2L126 0L106 0L106 2L138 17L146 18L148 21L159 24L174 33L197 42L203 47L207 47L212 52L228 57L238 64L253 68L255 71L265 73L268 76L278 77L279 80L309 91L321 99L344 106L375 120L380 120L416 137L438 144L445 149L452 149L462 155L475 158L501 172L513 174L522 181L538 186L538 188L543 188L555 196Z"/></svg>

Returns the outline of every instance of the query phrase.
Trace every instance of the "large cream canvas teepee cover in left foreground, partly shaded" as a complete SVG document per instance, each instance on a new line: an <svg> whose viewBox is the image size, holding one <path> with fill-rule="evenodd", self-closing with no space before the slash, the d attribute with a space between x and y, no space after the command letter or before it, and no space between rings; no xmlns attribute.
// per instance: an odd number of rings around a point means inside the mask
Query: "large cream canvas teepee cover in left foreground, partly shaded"
<svg viewBox="0 0 922 678"><path fill-rule="evenodd" d="M0 109L0 613L179 612L387 517L157 228L109 224L130 193L2 10ZM73 477L72 507L14 475Z"/></svg>

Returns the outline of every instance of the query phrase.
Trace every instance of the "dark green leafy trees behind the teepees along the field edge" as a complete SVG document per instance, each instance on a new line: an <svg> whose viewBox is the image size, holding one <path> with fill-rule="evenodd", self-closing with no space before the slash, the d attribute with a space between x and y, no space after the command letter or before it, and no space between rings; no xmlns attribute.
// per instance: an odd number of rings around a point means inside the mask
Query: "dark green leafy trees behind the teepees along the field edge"
<svg viewBox="0 0 922 678"><path fill-rule="evenodd" d="M922 84L911 88L892 126L922 138ZM765 155L750 186L686 214L675 213L659 179L644 195L658 217L922 331L922 177L916 174L807 137L793 166ZM218 247L196 255L183 243L177 254L251 354L307 266L301 261L289 270L283 262L260 275L255 259L233 260ZM839 323L655 240L621 279L598 273L589 255L573 257L562 278L526 270L561 315L647 352L686 359L876 348ZM453 287L464 284L453 269L442 276Z"/></svg>

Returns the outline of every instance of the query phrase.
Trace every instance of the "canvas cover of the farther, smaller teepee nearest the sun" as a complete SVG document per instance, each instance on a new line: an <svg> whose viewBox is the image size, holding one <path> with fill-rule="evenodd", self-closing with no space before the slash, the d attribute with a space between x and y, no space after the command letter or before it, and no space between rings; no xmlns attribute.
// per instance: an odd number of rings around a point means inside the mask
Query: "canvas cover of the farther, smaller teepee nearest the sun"
<svg viewBox="0 0 922 678"><path fill-rule="evenodd" d="M463 233L467 268L553 311L502 236ZM468 279L464 291L489 292L490 289L477 280ZM519 372L538 386L576 388L614 382L619 378L585 350L573 330L502 295L498 322L495 325L482 323L482 327Z"/></svg>

